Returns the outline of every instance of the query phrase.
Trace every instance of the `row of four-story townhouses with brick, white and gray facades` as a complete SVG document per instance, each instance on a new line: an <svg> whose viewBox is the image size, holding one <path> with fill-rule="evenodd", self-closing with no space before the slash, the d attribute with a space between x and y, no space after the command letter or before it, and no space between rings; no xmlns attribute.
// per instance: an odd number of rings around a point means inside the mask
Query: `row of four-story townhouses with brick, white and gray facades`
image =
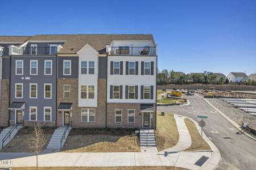
<svg viewBox="0 0 256 170"><path fill-rule="evenodd" d="M155 128L152 35L0 36L0 126Z"/></svg>

